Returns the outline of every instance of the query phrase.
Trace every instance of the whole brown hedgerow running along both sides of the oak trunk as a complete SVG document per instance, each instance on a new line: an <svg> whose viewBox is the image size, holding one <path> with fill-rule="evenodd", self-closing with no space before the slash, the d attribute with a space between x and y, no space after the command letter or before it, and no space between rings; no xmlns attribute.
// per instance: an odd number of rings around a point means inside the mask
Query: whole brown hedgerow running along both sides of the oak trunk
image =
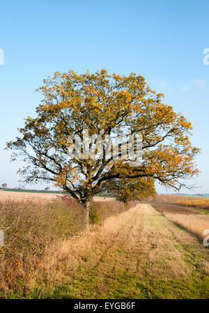
<svg viewBox="0 0 209 313"><path fill-rule="evenodd" d="M118 201L96 202L91 206L91 222L102 223L124 211L125 205ZM5 234L5 246L0 247L0 291L5 296L22 294L35 289L38 281L51 282L52 271L45 277L45 270L69 253L67 242L82 234L83 224L82 206L73 199L0 203L0 225ZM53 271L56 273L55 268Z"/></svg>

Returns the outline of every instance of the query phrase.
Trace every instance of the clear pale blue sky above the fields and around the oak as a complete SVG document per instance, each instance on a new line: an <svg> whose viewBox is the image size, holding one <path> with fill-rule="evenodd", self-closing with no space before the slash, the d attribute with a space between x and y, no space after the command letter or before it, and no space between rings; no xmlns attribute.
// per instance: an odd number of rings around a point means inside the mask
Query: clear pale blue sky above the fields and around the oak
<svg viewBox="0 0 209 313"><path fill-rule="evenodd" d="M1 1L0 185L18 185L21 165L10 162L3 148L34 114L40 101L34 89L42 79L57 70L106 68L143 75L192 122L192 141L202 153L196 158L201 175L190 183L201 186L196 192L209 192L209 66L203 65L208 12L206 0Z"/></svg>

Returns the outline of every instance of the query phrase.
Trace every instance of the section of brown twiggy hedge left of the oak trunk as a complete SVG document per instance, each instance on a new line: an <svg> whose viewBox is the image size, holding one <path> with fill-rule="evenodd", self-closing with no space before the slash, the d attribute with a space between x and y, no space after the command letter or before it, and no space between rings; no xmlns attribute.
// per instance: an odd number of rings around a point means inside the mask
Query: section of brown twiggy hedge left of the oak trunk
<svg viewBox="0 0 209 313"><path fill-rule="evenodd" d="M75 202L71 206L61 202L4 202L0 205L0 224L5 234L0 289L7 293L26 288L45 247L82 231L82 211Z"/></svg>

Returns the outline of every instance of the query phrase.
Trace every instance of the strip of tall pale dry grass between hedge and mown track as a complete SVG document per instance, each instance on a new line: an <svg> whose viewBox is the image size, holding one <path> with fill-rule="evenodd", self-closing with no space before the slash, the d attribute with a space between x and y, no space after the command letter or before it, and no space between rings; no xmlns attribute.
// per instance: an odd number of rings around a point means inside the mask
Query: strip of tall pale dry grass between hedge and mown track
<svg viewBox="0 0 209 313"><path fill-rule="evenodd" d="M98 264L101 255L111 246L112 241L116 240L118 231L129 220L130 211L107 218L101 227L84 231L82 236L47 247L42 256L41 267L37 268L36 273L43 289L48 289L48 286L53 288L54 282L61 282L65 275L76 273L77 266L82 262L85 263L92 252L93 258L88 266L93 268Z"/></svg>

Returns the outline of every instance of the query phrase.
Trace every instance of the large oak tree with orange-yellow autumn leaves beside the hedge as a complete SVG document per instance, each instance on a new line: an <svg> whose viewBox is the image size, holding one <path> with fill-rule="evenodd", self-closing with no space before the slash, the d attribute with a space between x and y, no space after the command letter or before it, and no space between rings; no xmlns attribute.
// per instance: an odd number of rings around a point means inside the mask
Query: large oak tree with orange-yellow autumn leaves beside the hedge
<svg viewBox="0 0 209 313"><path fill-rule="evenodd" d="M183 179L198 173L189 133L192 125L163 95L150 89L144 77L109 75L107 70L82 75L56 72L38 89L43 99L36 117L28 117L20 137L8 143L17 157L28 162L20 173L25 183L53 182L82 202L88 224L89 203L105 181L114 178L152 177L165 186L180 189ZM143 160L130 167L125 158L80 159L68 155L68 136L142 136Z"/></svg>

